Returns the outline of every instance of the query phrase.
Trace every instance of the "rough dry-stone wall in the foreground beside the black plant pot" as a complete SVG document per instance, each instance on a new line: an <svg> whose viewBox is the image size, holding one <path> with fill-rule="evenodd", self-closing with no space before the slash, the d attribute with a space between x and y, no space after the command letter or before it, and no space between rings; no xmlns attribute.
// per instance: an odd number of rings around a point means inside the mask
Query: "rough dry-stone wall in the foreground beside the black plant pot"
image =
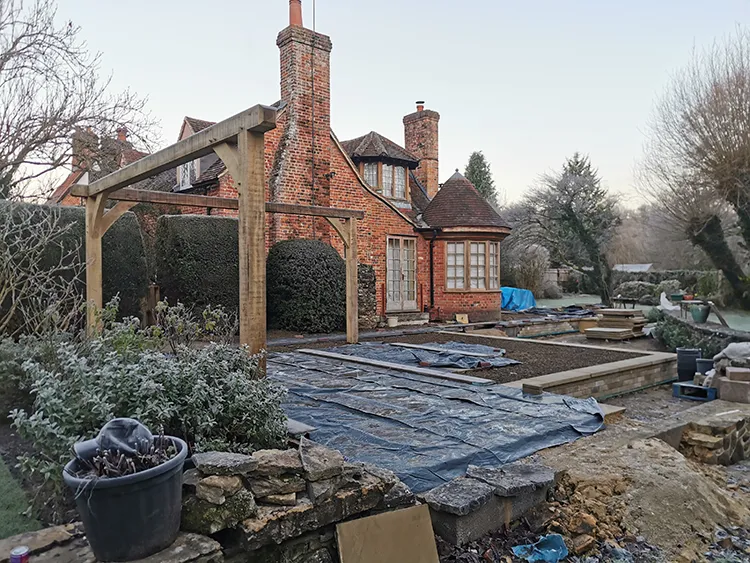
<svg viewBox="0 0 750 563"><path fill-rule="evenodd" d="M305 438L299 449L191 459L180 537L141 563L337 563L337 523L416 502L394 473ZM94 563L80 525L2 540L0 563L18 545L35 563Z"/></svg>

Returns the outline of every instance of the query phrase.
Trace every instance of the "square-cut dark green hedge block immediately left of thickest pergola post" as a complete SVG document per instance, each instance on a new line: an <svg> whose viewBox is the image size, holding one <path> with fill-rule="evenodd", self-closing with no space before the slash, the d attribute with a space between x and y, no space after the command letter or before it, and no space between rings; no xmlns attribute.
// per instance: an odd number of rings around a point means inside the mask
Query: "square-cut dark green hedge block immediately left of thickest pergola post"
<svg viewBox="0 0 750 563"><path fill-rule="evenodd" d="M239 298L237 219L162 215L156 225L156 279L162 298L236 312ZM269 279L272 275L268 276Z"/></svg>

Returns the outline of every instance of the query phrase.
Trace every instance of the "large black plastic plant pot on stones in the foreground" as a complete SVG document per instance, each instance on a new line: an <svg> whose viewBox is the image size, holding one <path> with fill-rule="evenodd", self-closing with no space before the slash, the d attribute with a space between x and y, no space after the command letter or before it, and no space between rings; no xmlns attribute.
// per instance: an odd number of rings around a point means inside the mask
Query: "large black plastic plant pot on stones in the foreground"
<svg viewBox="0 0 750 563"><path fill-rule="evenodd" d="M80 479L74 459L63 479L73 490L86 537L98 561L133 561L166 549L180 531L182 466L187 444L166 436L177 455L159 465L125 477Z"/></svg>

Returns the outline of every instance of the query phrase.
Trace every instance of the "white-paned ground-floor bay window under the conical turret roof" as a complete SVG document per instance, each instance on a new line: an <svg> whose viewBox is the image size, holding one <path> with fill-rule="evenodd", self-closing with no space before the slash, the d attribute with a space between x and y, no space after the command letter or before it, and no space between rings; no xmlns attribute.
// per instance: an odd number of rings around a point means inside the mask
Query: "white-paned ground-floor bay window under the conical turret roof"
<svg viewBox="0 0 750 563"><path fill-rule="evenodd" d="M500 243L446 243L445 287L449 290L500 289Z"/></svg>

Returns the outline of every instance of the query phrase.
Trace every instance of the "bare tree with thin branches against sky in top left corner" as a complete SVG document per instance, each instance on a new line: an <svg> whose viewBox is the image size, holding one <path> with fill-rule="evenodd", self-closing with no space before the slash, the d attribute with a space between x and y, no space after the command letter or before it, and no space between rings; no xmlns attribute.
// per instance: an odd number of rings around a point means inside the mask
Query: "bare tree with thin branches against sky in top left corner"
<svg viewBox="0 0 750 563"><path fill-rule="evenodd" d="M80 28L58 26L55 16L54 0L0 0L3 199L43 189L44 178L71 158L76 130L104 139L124 127L144 146L154 140L145 99L110 93L100 56L89 52Z"/></svg>

